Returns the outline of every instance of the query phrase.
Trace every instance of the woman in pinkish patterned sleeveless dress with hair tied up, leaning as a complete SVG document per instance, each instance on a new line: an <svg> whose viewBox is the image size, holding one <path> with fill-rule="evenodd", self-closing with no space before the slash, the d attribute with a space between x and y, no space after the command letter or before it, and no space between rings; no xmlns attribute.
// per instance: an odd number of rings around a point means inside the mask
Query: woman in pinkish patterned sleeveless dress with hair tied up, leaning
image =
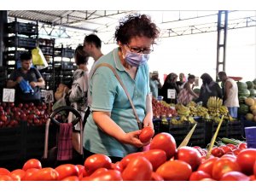
<svg viewBox="0 0 256 192"><path fill-rule="evenodd" d="M193 100L193 98L198 98L198 96L193 91L194 83L195 83L195 75L189 74L188 81L183 85L183 89L180 90L177 96L178 103L187 105L189 102Z"/></svg>

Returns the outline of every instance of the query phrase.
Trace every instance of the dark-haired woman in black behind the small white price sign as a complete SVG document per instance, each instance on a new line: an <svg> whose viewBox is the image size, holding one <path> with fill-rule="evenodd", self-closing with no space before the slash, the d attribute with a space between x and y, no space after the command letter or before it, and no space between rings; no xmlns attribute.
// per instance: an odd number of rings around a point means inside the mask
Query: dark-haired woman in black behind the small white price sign
<svg viewBox="0 0 256 192"><path fill-rule="evenodd" d="M175 98L168 98L168 90L175 90ZM160 95L164 96L163 100L167 103L177 103L177 95L179 93L179 88L177 87L177 74L170 73L167 75L164 85L161 88Z"/></svg>

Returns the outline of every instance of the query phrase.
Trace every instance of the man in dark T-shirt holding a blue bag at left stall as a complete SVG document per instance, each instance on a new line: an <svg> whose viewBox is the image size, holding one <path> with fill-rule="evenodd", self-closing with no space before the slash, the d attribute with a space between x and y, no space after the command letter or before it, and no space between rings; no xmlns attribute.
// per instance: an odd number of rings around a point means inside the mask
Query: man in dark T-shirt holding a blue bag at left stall
<svg viewBox="0 0 256 192"><path fill-rule="evenodd" d="M20 55L21 67L15 69L10 74L7 82L8 88L15 88L15 102L34 102L37 104L41 101L40 87L44 86L44 79L39 73L38 69L32 67L32 55L30 53L23 53ZM28 81L33 89L33 93L24 93L20 89L20 81L24 79Z"/></svg>

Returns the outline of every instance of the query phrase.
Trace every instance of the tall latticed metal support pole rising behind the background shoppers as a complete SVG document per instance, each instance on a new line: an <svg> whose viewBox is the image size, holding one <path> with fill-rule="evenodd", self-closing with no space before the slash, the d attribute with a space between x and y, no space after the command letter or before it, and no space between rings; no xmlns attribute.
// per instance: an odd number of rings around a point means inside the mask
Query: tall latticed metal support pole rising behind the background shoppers
<svg viewBox="0 0 256 192"><path fill-rule="evenodd" d="M224 19L223 19L224 16ZM217 64L216 64L216 80L218 80L218 72L225 71L226 60L226 37L228 29L228 11L218 11L218 39L217 39ZM222 68L221 68L222 67Z"/></svg>

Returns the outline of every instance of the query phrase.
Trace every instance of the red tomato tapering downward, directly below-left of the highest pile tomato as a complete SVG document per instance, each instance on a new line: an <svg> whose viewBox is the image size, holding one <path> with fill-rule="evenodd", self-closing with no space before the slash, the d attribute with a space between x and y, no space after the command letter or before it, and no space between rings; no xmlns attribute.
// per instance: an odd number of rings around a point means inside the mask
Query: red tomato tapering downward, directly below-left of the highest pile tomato
<svg viewBox="0 0 256 192"><path fill-rule="evenodd" d="M161 149L152 149L144 152L143 157L145 157L151 165L153 166L153 171L166 162L166 152Z"/></svg>

